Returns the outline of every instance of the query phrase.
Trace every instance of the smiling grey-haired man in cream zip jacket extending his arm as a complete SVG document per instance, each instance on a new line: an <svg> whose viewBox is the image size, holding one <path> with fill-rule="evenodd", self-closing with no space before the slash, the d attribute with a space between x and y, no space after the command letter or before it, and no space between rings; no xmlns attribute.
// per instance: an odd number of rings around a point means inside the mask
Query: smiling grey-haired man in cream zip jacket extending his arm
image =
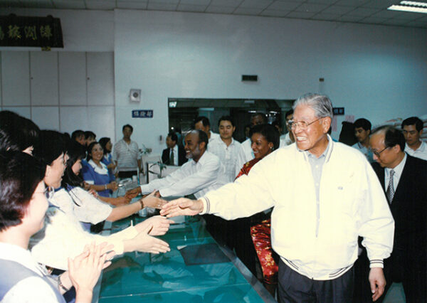
<svg viewBox="0 0 427 303"><path fill-rule="evenodd" d="M383 260L393 247L394 220L366 157L327 134L332 103L307 94L293 106L296 144L273 151L248 176L180 198L162 215L211 213L228 220L274 206L271 238L280 255L280 302L351 302L358 236L364 238L372 299L384 292Z"/></svg>

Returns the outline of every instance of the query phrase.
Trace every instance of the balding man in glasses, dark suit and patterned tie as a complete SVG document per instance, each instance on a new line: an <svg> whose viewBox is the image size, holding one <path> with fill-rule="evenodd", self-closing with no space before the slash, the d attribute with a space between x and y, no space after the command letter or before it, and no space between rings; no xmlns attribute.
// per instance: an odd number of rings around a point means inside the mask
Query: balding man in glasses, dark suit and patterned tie
<svg viewBox="0 0 427 303"><path fill-rule="evenodd" d="M393 252L384 261L386 290L402 282L406 302L427 302L427 161L404 152L404 135L394 127L375 129L370 144L395 220Z"/></svg>

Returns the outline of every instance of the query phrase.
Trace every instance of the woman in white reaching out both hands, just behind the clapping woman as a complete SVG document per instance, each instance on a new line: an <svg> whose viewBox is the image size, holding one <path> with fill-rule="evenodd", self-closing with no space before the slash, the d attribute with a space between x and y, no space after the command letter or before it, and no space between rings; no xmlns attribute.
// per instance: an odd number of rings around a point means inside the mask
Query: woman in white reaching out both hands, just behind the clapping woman
<svg viewBox="0 0 427 303"><path fill-rule="evenodd" d="M34 150L34 156L46 165L43 181L47 186L60 188L68 161L68 146L60 132L41 131L40 139L41 148ZM56 198L61 195L68 196L68 199L58 198L57 201ZM83 230L80 220L73 211L73 200L64 188L55 191L49 203L45 226L43 230L33 235L30 243L31 254L43 265L66 270L67 258L75 257L86 244L93 241L114 245L113 250L117 255L132 251L153 253L169 251L166 242L151 236L166 233L162 222L145 220L145 223L142 222L144 224L139 223L108 236L94 235ZM140 201L139 204L142 208L144 201Z"/></svg>

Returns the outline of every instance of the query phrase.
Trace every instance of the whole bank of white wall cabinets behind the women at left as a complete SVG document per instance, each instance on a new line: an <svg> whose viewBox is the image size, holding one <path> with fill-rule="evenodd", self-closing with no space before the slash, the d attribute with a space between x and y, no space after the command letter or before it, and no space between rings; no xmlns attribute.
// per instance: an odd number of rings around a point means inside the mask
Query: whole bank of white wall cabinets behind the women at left
<svg viewBox="0 0 427 303"><path fill-rule="evenodd" d="M1 52L1 105L41 129L115 137L114 54Z"/></svg>

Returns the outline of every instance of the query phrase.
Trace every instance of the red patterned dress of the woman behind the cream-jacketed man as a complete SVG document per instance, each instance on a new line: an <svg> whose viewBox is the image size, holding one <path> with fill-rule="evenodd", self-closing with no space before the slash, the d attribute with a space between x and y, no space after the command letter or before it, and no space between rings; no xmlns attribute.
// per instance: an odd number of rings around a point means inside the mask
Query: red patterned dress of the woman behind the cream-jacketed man
<svg viewBox="0 0 427 303"><path fill-rule="evenodd" d="M241 171L236 176L249 174L252 167L258 163L260 159L252 159L243 165ZM255 246L258 260L260 260L261 269L263 270L263 279L266 284L278 283L278 264L273 259L273 248L271 248L271 219L262 220L260 223L255 223L251 227L251 237Z"/></svg>

